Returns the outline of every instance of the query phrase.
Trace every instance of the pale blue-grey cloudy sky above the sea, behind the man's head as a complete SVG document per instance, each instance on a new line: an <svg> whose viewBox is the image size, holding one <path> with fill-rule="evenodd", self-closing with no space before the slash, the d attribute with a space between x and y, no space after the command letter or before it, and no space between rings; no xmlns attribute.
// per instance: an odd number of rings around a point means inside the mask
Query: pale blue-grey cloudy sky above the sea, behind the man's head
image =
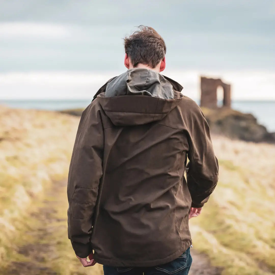
<svg viewBox="0 0 275 275"><path fill-rule="evenodd" d="M275 0L0 0L0 98L90 98L123 73L123 37L152 26L163 72L199 97L199 76L233 99L275 100Z"/></svg>

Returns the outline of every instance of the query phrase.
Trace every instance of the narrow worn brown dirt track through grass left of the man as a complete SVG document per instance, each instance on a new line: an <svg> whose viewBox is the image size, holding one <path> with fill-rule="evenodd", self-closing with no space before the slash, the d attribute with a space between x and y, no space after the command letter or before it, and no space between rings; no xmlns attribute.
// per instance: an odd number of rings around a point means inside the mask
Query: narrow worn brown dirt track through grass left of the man
<svg viewBox="0 0 275 275"><path fill-rule="evenodd" d="M51 262L58 257L55 246L52 242L46 242L62 226L64 219L55 216L56 208L59 207L57 194L61 193L65 187L65 182L58 182L55 188L51 188L45 194L43 202L31 213L29 229L22 232L27 236L26 243L18 249L18 260L12 262L1 274L7 275L37 275L58 274Z"/></svg>

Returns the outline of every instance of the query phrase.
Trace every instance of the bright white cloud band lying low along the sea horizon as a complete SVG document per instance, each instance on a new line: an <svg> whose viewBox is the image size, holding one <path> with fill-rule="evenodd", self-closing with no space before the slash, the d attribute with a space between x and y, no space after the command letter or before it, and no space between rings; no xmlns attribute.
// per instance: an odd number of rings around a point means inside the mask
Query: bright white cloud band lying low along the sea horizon
<svg viewBox="0 0 275 275"><path fill-rule="evenodd" d="M122 71L123 72L123 71ZM92 98L113 76L122 72L12 72L0 73L0 99ZM183 86L183 94L200 97L200 75L222 78L232 84L234 100L275 100L275 71L165 70L164 75Z"/></svg>

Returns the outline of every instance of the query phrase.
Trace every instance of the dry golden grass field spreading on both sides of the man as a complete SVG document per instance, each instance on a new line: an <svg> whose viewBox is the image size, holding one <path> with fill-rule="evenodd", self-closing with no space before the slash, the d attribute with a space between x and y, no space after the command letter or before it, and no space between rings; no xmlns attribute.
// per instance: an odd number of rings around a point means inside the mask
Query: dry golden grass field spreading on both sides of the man
<svg viewBox="0 0 275 275"><path fill-rule="evenodd" d="M66 176L79 117L0 106L0 275L102 274L67 239ZM191 219L196 251L222 275L275 274L275 146L213 144L219 183ZM193 262L196 265L196 262Z"/></svg>

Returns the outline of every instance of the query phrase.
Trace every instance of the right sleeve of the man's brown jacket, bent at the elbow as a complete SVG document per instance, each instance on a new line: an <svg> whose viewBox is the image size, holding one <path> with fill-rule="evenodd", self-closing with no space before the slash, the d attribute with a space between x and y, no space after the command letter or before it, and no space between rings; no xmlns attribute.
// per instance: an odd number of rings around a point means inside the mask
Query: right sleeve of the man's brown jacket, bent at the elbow
<svg viewBox="0 0 275 275"><path fill-rule="evenodd" d="M194 103L188 119L189 163L186 175L192 198L191 207L202 207L218 182L219 164L215 157L210 129L199 106Z"/></svg>

